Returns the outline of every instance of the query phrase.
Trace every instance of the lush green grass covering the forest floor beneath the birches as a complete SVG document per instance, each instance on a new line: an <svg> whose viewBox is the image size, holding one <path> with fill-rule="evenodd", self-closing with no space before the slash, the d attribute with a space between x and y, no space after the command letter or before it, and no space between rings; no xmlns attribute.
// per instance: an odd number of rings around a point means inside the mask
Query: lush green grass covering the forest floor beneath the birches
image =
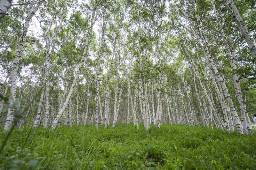
<svg viewBox="0 0 256 170"><path fill-rule="evenodd" d="M256 129L254 129L256 130ZM26 132L26 133L25 133ZM164 124L14 129L1 169L255 169L256 133ZM1 144L6 132L0 132ZM25 140L27 141L25 142Z"/></svg>

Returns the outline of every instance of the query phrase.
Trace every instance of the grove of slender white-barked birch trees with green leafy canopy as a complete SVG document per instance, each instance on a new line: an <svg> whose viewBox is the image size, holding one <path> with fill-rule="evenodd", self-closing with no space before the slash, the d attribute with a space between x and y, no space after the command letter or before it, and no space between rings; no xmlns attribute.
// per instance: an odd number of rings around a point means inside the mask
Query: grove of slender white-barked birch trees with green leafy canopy
<svg viewBox="0 0 256 170"><path fill-rule="evenodd" d="M24 124L32 115L34 127L51 130L167 123L252 133L255 4L11 3L0 3L4 130L28 108Z"/></svg>

